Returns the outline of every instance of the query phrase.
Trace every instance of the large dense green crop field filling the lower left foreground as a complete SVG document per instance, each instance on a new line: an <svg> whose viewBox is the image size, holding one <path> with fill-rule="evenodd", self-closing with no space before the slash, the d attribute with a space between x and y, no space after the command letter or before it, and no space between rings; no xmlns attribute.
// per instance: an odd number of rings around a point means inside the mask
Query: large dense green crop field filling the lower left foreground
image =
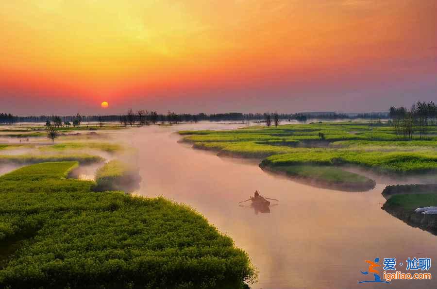
<svg viewBox="0 0 437 289"><path fill-rule="evenodd" d="M77 164L0 177L0 288L241 288L255 276L191 208L92 192L94 182L65 178Z"/></svg>

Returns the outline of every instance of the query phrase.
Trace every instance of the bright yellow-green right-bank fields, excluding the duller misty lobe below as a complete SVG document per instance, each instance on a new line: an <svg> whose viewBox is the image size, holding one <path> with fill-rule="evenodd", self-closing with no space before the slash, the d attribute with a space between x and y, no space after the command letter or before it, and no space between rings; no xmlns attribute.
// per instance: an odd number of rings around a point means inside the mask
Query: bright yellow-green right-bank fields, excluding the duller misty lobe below
<svg viewBox="0 0 437 289"><path fill-rule="evenodd" d="M353 164L397 173L437 169L436 136L395 141L394 127L385 124L325 122L180 134L196 148L222 155L267 157L263 166Z"/></svg>

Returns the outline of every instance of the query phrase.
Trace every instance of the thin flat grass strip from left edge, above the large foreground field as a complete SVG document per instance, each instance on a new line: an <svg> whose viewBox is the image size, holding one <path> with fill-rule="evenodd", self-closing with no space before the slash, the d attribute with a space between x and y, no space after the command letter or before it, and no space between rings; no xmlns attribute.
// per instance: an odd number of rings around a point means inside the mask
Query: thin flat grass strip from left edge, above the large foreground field
<svg viewBox="0 0 437 289"><path fill-rule="evenodd" d="M104 159L97 155L89 154L54 154L54 155L0 155L1 163L15 163L15 164L34 164L44 162L63 162L63 161L77 161L81 164L98 163Z"/></svg>

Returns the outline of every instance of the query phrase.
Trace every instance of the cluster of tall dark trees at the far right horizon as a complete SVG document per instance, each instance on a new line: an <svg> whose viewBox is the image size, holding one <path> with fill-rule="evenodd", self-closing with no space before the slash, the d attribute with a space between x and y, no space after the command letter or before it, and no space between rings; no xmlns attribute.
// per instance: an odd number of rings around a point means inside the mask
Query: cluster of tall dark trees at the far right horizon
<svg viewBox="0 0 437 289"><path fill-rule="evenodd" d="M395 128L397 139L412 139L415 131L419 131L422 138L428 127L437 125L437 105L432 101L418 101L410 109L392 106L388 110L388 116Z"/></svg>

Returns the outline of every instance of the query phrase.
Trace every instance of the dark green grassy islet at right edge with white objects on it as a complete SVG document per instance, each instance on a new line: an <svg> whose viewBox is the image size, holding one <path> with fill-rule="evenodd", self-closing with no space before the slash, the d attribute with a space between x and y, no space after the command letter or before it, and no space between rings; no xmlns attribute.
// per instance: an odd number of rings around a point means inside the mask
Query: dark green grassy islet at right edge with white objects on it
<svg viewBox="0 0 437 289"><path fill-rule="evenodd" d="M437 235L437 215L426 215L415 211L416 208L428 206L437 206L437 193L393 195L382 209L412 227Z"/></svg>

